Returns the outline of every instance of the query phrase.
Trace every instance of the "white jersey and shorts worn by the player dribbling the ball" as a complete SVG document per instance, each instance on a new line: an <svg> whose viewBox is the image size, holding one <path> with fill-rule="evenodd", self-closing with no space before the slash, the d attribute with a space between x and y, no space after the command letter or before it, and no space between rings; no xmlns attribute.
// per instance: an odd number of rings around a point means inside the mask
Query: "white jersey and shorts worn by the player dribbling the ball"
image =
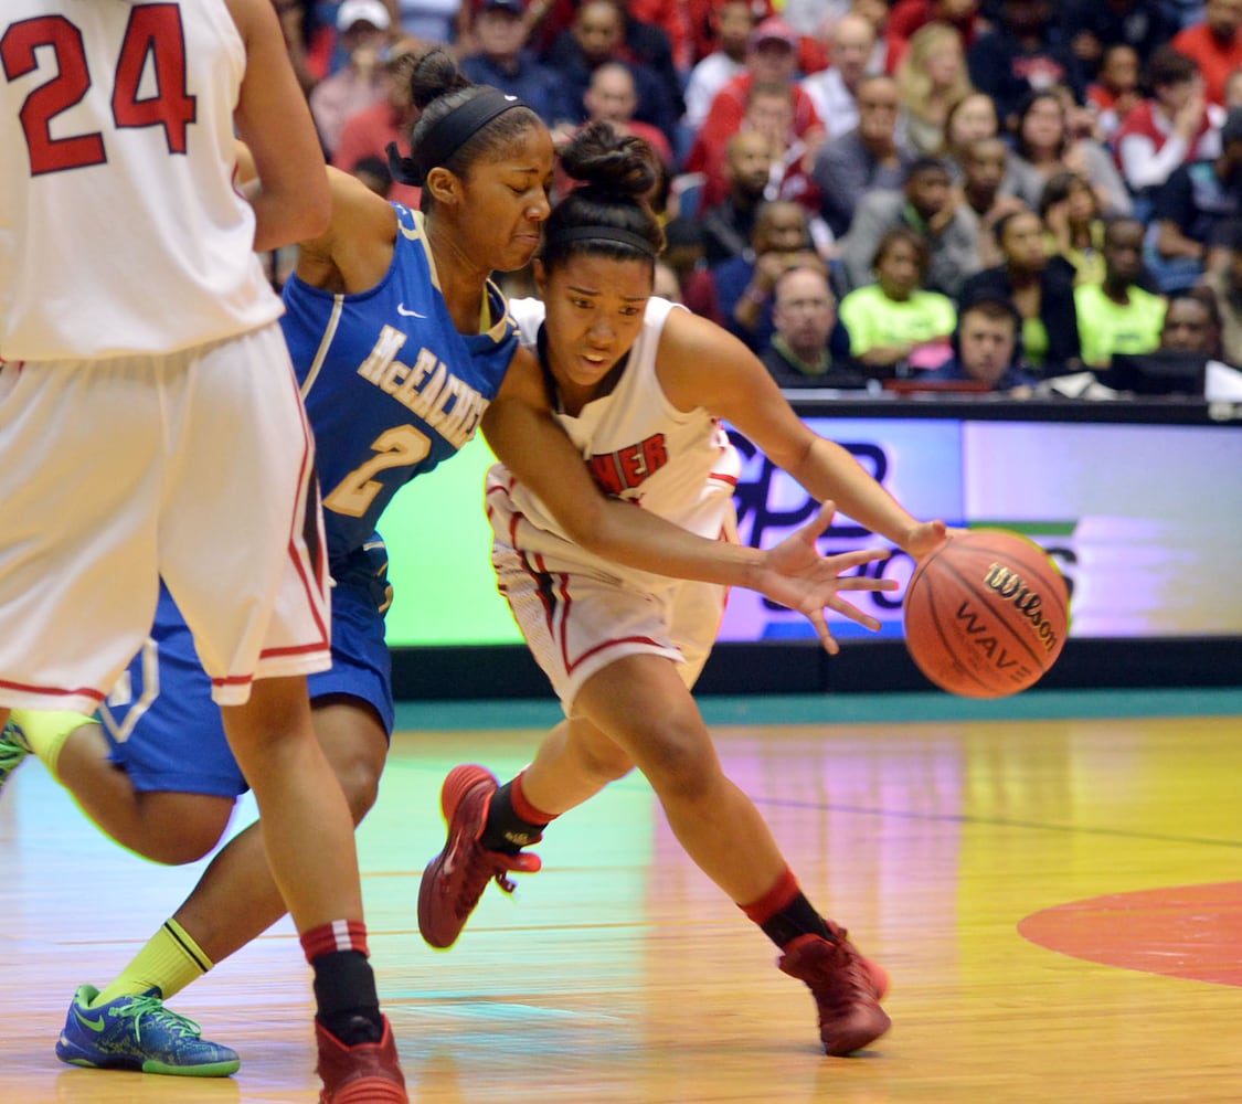
<svg viewBox="0 0 1242 1104"><path fill-rule="evenodd" d="M544 304L519 299L509 309L523 343L535 346ZM660 339L678 309L667 299L647 299L642 327L607 397L558 420L606 493L699 536L735 541L737 450L718 420L703 410L678 410L660 387ZM503 541L493 556L499 590L563 700L573 702L595 672L621 656L643 652L673 661L687 685L694 684L715 641L725 587L627 569L579 548L539 495L503 464L488 473L487 508ZM548 616L538 577L558 580L561 616ZM663 628L671 610L674 640Z"/></svg>

